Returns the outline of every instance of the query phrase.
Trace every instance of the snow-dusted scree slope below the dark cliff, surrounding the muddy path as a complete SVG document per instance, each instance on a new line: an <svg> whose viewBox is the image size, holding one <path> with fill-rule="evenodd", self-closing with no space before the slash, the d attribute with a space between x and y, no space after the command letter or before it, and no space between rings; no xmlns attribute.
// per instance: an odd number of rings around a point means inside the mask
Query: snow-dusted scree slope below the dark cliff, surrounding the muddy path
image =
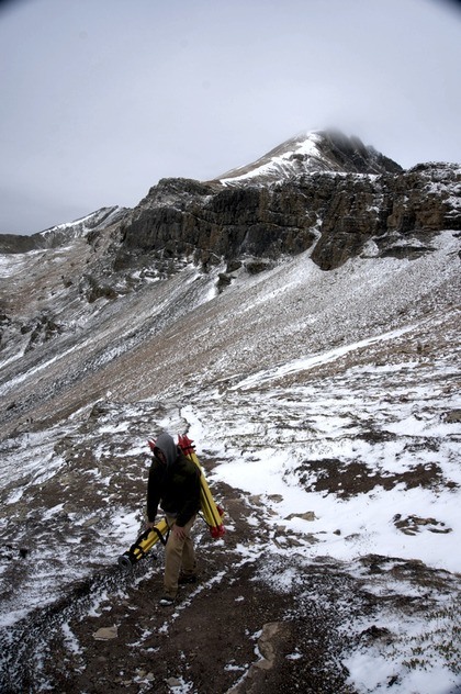
<svg viewBox="0 0 461 694"><path fill-rule="evenodd" d="M202 460L214 461L215 488L247 504L244 544L232 542L228 511L232 566L249 561L255 580L296 595L301 577L328 558L375 595L372 616L348 616L358 646L342 662L353 691L390 681L395 692L440 683L454 691L459 234L440 234L414 260L379 258L369 244L330 272L308 253L256 276L244 265L222 292L220 267L144 267L124 278L116 299L89 304L72 272L92 262L103 270L100 240L2 258L2 300L15 312L18 329L9 331L20 350L8 350L0 383L9 672L21 681L11 653L35 609L112 575L140 527L145 440L167 428L188 429ZM19 324L45 313L61 329L24 350ZM437 575L437 590L428 591L424 571ZM104 604L103 592L93 600ZM392 638L360 640L375 624ZM454 650L440 656L447 634ZM425 657L408 667L423 642Z"/></svg>

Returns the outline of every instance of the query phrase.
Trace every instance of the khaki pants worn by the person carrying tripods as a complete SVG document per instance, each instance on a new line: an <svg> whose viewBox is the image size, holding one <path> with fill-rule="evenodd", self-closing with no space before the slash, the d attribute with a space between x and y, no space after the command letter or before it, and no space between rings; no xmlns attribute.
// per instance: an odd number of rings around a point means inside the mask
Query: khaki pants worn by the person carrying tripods
<svg viewBox="0 0 461 694"><path fill-rule="evenodd" d="M175 525L173 516L166 516L168 527ZM184 525L185 539L179 540L172 533L169 534L167 545L165 547L165 575L164 585L165 593L170 597L176 597L178 593L179 574L194 575L196 572L195 550L190 536L191 528L195 522L196 515Z"/></svg>

